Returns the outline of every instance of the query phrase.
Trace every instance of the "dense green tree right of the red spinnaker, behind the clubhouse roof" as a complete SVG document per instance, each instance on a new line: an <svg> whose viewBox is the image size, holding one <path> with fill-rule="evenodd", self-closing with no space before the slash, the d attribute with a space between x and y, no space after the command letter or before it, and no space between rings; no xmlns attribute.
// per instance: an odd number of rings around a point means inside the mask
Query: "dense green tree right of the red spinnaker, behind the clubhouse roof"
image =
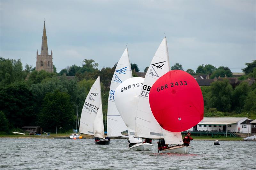
<svg viewBox="0 0 256 170"><path fill-rule="evenodd" d="M228 80L212 82L208 106L222 112L228 112L232 106L232 86Z"/></svg>

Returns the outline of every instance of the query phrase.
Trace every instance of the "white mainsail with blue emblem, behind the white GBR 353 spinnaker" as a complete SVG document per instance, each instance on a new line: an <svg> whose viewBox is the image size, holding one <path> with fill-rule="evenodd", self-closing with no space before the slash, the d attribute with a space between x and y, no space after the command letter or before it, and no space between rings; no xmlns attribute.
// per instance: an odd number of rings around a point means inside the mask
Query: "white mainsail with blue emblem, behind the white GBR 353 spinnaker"
<svg viewBox="0 0 256 170"><path fill-rule="evenodd" d="M110 84L108 95L108 137L120 137L122 136L121 132L127 130L123 119L116 109L114 93L116 87L128 78L132 78L132 70L128 49L126 48L116 65L116 70Z"/></svg>

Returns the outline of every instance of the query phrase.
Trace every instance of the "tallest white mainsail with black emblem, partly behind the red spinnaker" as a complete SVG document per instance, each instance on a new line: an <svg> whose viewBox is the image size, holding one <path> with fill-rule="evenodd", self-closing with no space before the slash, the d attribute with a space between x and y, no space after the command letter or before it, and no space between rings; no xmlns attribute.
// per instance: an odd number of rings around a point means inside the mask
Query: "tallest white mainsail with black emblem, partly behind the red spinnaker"
<svg viewBox="0 0 256 170"><path fill-rule="evenodd" d="M159 125L154 115L152 114L149 105L148 96L151 86L156 82L158 78L163 76L168 71L170 71L169 55L166 38L164 38L160 46L156 50L156 53L149 65L148 71L145 75L143 87L140 92L135 121L135 137L159 139L163 138L165 135L166 137L164 137L164 139L166 138L168 141L171 141L168 136L172 137L175 135L179 138L177 138L177 140L174 139L176 142L174 142L173 144L179 143L180 139L182 141L180 132L174 133L162 129L162 127ZM167 142L165 143L171 144Z"/></svg>

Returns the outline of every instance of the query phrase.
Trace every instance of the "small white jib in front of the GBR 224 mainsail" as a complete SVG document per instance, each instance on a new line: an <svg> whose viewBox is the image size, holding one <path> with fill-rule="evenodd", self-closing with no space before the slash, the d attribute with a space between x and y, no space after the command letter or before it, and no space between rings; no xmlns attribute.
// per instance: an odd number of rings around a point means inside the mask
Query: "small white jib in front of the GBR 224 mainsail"
<svg viewBox="0 0 256 170"><path fill-rule="evenodd" d="M103 114L102 114L102 104L100 104L99 111L93 122L93 133L94 137L99 137L104 139L104 125L103 125Z"/></svg>

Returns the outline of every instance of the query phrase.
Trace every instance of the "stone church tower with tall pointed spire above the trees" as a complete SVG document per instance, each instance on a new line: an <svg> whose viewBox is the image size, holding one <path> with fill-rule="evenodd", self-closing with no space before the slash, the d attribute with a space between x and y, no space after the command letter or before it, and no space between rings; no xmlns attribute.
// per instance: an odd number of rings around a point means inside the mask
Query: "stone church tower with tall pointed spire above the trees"
<svg viewBox="0 0 256 170"><path fill-rule="evenodd" d="M42 47L41 47L40 55L38 55L38 50L36 51L36 71L41 71L41 70L53 72L52 51L51 51L51 55L49 55L45 21L44 21L44 31L43 31Z"/></svg>

